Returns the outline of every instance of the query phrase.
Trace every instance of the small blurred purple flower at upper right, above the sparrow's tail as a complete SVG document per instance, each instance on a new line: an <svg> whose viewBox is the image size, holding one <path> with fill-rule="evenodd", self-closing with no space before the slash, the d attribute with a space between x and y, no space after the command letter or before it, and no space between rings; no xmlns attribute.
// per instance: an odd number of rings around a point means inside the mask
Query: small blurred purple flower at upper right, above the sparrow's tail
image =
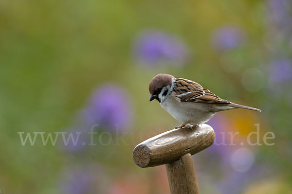
<svg viewBox="0 0 292 194"><path fill-rule="evenodd" d="M237 26L223 26L215 30L212 44L215 50L224 51L234 49L244 42L245 34Z"/></svg>

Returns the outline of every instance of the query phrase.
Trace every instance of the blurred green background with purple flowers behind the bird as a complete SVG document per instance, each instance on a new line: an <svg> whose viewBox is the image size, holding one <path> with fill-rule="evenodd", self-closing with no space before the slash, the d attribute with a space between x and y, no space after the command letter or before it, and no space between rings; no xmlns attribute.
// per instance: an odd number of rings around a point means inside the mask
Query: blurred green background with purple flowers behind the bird
<svg viewBox="0 0 292 194"><path fill-rule="evenodd" d="M169 73L262 109L209 121L217 143L239 135L193 156L202 194L292 193L291 24L291 0L0 1L0 192L169 193L164 166L132 159L181 124L148 102L152 77ZM246 143L256 123L261 146ZM19 132L82 134L22 145Z"/></svg>

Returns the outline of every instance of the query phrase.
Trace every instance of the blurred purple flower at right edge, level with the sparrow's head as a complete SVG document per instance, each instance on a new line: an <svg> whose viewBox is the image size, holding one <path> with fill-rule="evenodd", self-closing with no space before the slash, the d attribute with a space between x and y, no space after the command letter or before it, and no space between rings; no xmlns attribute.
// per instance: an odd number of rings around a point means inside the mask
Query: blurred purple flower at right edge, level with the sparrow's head
<svg viewBox="0 0 292 194"><path fill-rule="evenodd" d="M284 83L292 80L292 62L283 58L274 60L270 66L270 82Z"/></svg>

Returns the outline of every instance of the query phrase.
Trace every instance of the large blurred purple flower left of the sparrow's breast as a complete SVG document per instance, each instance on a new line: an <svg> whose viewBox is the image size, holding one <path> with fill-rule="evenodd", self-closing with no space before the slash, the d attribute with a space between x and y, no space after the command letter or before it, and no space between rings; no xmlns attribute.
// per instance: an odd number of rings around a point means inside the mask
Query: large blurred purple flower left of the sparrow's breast
<svg viewBox="0 0 292 194"><path fill-rule="evenodd" d="M128 92L113 84L104 84L95 89L84 110L84 119L88 125L99 124L110 131L125 129L131 117Z"/></svg>

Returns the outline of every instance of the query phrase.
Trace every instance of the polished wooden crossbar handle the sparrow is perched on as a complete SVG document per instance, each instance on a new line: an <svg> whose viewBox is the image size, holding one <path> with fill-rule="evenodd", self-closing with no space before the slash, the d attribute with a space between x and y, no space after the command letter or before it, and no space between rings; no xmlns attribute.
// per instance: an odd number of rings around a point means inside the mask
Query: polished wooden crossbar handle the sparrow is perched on
<svg viewBox="0 0 292 194"><path fill-rule="evenodd" d="M207 124L193 129L173 129L138 144L133 150L133 159L139 167L171 163L187 153L194 155L202 151L212 145L214 139L214 130Z"/></svg>

